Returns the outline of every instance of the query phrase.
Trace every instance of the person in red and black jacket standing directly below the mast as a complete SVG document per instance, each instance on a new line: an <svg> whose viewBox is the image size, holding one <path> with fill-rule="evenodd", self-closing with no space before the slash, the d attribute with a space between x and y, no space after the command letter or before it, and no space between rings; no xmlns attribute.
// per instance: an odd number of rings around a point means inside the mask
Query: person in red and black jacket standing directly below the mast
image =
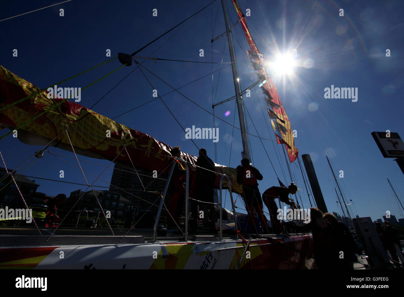
<svg viewBox="0 0 404 297"><path fill-rule="evenodd" d="M261 194L258 189L257 180L263 179L257 168L250 164L248 158L241 160L241 166L237 166L237 182L243 187L244 202L248 213L248 224L252 230L257 231L254 219L254 209L258 214L264 234L270 234L271 228L267 223L267 218L263 213ZM258 233L258 231L257 231Z"/></svg>

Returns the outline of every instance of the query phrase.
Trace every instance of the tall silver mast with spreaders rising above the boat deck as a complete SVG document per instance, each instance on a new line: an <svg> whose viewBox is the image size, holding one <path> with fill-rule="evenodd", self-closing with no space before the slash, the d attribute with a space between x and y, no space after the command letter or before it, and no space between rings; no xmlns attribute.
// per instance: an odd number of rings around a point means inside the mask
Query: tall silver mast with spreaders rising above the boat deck
<svg viewBox="0 0 404 297"><path fill-rule="evenodd" d="M241 154L242 154L243 158L248 158L251 161L250 147L248 146L248 139L247 139L246 121L244 119L241 88L240 88L240 83L239 83L240 79L238 78L238 75L237 75L236 61L234 59L234 48L233 48L233 41L231 40L231 34L230 34L230 30L229 30L229 19L227 16L226 0L222 0L222 6L223 6L223 14L225 16L226 35L227 35L227 43L229 44L231 71L233 72L234 90L236 91L236 102L237 102L238 118L240 120L241 140L243 143L243 150L244 150L244 152L242 152Z"/></svg>

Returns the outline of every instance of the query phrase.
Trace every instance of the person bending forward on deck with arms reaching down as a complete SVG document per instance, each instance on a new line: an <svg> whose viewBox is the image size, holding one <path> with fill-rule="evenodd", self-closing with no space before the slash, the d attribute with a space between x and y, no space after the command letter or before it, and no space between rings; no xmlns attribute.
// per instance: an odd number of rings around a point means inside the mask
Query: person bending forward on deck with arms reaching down
<svg viewBox="0 0 404 297"><path fill-rule="evenodd" d="M278 206L276 205L275 199L279 198L280 201L296 207L295 202L290 202L288 196L289 193L295 194L297 190L297 186L294 183L290 183L289 187L270 187L262 194L264 203L269 210L272 229L275 233L280 233L282 230L282 225L278 219Z"/></svg>

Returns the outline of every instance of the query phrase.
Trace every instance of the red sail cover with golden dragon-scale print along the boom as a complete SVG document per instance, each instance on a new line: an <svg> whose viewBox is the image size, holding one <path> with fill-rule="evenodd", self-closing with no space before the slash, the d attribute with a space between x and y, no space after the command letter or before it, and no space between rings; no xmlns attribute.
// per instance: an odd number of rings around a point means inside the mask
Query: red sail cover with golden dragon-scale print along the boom
<svg viewBox="0 0 404 297"><path fill-rule="evenodd" d="M18 129L18 139L23 143L46 145L60 134L50 145L72 151L70 138L78 154L107 160L114 160L119 154L115 162L126 164L128 168L132 168L133 162L134 166L156 170L159 174L167 171L172 160L172 147L169 145L74 102L64 101L38 117L48 108L63 101L61 98L48 98L47 91L38 93L39 91L40 88L0 65L0 127ZM34 93L38 94L8 106ZM36 119L23 125L32 118ZM69 138L63 133L67 127ZM196 163L196 157L182 152L181 158L191 164L191 174L195 169L192 164ZM236 181L236 169L219 164L215 164L215 169L216 172L231 177L232 190L242 193L241 186ZM217 175L216 187L219 187L219 178ZM226 187L227 181L223 179L223 188Z"/></svg>

